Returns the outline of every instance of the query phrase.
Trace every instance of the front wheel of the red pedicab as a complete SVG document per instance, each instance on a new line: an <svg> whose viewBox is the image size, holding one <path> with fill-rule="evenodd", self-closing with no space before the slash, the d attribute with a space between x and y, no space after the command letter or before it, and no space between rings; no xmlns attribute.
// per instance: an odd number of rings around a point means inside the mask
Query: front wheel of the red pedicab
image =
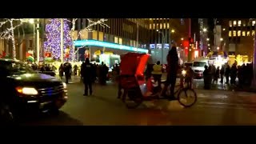
<svg viewBox="0 0 256 144"><path fill-rule="evenodd" d="M198 97L193 89L182 89L178 93L178 102L184 107L193 106Z"/></svg>

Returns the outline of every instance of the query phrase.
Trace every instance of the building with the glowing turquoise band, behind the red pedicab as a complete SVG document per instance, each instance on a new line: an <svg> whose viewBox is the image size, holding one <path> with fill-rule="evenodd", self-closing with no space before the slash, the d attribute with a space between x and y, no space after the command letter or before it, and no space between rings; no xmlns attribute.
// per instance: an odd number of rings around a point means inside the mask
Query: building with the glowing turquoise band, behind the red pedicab
<svg viewBox="0 0 256 144"><path fill-rule="evenodd" d="M91 18L97 21L98 18ZM106 22L109 27L92 26L93 32L83 31L75 46L87 46L90 54L98 50L113 54L124 54L129 51L147 53L149 47L149 25L143 18L109 18ZM76 34L89 25L87 18L78 18ZM87 42L84 41L90 41ZM83 59L86 49L79 50L79 58Z"/></svg>

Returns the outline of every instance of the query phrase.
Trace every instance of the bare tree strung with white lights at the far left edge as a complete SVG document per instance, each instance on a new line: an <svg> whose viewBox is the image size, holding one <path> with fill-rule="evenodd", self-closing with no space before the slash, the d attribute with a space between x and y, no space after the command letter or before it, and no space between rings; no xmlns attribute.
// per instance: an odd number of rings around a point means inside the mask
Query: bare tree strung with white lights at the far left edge
<svg viewBox="0 0 256 144"><path fill-rule="evenodd" d="M22 26L24 22L27 22L25 18L4 18L4 21L0 22L0 28L3 28L4 26L6 27L2 32L0 32L0 38L12 41L14 59L16 59L14 30L18 28L18 26Z"/></svg>

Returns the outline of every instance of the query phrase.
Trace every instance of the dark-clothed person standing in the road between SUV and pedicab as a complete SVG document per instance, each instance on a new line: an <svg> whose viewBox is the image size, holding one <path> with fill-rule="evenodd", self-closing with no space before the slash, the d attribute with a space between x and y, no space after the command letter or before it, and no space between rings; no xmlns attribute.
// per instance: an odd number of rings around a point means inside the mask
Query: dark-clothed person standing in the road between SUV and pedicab
<svg viewBox="0 0 256 144"><path fill-rule="evenodd" d="M90 63L89 58L86 58L86 62L82 63L81 66L81 74L82 74L82 80L83 83L85 84L85 93L83 94L84 96L88 96L88 88L90 95L93 94L92 90L92 82L94 80L94 66L93 64Z"/></svg>

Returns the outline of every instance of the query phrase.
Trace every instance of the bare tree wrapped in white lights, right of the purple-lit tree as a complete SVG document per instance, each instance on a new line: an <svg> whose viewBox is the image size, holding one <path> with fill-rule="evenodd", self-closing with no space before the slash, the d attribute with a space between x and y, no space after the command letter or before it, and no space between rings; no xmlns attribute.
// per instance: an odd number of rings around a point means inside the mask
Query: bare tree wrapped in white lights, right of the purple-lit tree
<svg viewBox="0 0 256 144"><path fill-rule="evenodd" d="M84 31L87 31L87 32L93 32L94 30L91 28L92 26L96 26L96 25L100 25L100 26L102 26L103 28L105 28L105 26L106 27L108 27L108 28L110 28L110 26L107 26L106 25L106 21L107 21L107 19L105 19L105 18L100 18L98 21L92 21L90 18L86 18L86 20L89 22L89 24L84 28L84 29L82 29L82 30L80 30L79 32L78 32L78 35L77 35L77 37L74 37L74 30L75 30L75 22L78 20L78 18L73 18L72 19L72 28L71 28L71 30L70 30L70 35L71 35L71 38L74 40L74 41L76 41L76 40L78 40L78 38L80 38L80 36L81 36L81 34L82 34L82 32L84 32ZM81 47L83 47L83 46L81 46ZM78 49L79 49L80 47L78 47ZM72 46L72 51L74 51L74 53L71 53L70 54L70 56L71 56L71 59L74 61L75 60L75 54L76 53L78 53L78 50L74 50L74 46Z"/></svg>

